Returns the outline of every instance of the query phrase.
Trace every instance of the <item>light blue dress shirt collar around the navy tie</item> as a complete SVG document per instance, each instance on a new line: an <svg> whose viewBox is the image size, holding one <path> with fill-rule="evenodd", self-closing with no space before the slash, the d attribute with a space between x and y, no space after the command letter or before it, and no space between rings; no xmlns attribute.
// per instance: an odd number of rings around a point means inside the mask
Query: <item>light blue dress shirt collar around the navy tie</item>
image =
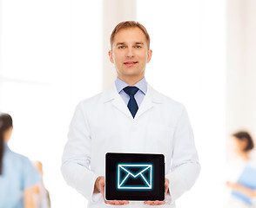
<svg viewBox="0 0 256 208"><path fill-rule="evenodd" d="M120 96L125 101L125 105L127 106L128 102L130 100L130 96L125 93L123 88L125 88L129 85L127 83L125 83L125 81L120 80L118 77L117 77L117 80L115 81L115 84L116 84L116 88L118 90L118 94L120 94ZM146 92L147 92L147 83L145 81L145 77L141 81L138 81L134 86L138 88L138 92L137 92L137 94L134 95L134 98L137 101L137 104L139 107L145 97Z"/></svg>

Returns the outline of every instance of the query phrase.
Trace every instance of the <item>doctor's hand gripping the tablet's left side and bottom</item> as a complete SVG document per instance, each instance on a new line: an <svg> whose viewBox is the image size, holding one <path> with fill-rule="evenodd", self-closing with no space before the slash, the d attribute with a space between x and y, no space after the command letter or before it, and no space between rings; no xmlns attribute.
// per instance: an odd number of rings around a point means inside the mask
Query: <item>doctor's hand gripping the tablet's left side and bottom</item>
<svg viewBox="0 0 256 208"><path fill-rule="evenodd" d="M94 192L101 192L103 198L104 198L104 177L100 176L96 179L95 185L94 185ZM104 203L108 205L128 205L129 201L118 201L118 200L112 200L112 201L106 201L104 199Z"/></svg>

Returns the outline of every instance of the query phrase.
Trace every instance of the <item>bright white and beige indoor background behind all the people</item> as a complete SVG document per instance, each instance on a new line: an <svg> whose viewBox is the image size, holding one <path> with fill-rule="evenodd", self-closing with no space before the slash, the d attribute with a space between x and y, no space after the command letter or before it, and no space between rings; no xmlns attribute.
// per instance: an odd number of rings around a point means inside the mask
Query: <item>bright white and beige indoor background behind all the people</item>
<svg viewBox="0 0 256 208"><path fill-rule="evenodd" d="M78 101L116 78L109 37L125 20L151 36L146 80L182 102L192 123L202 170L177 207L225 207L229 135L256 138L254 0L0 0L0 111L14 120L11 149L43 163L53 208L86 207L65 184L61 157Z"/></svg>

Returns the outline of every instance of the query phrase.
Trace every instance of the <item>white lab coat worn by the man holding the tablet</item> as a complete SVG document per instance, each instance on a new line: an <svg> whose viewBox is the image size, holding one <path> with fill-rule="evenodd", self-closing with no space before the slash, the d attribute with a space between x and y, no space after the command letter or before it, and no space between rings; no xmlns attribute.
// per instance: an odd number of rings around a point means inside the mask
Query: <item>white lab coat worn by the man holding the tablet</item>
<svg viewBox="0 0 256 208"><path fill-rule="evenodd" d="M100 193L93 194L95 180L104 176L105 153L112 152L165 155L171 196L159 208L175 207L175 200L199 176L198 153L185 107L149 85L134 119L115 84L77 105L64 147L62 172L67 184L88 199L88 207L115 207L105 205ZM143 206L131 202L122 207Z"/></svg>

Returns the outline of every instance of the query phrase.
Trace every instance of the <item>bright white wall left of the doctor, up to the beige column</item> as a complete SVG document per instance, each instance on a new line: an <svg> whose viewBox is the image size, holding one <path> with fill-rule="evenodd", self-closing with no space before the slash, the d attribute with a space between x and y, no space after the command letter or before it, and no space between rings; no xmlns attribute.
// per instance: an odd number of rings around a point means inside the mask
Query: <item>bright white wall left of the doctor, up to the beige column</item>
<svg viewBox="0 0 256 208"><path fill-rule="evenodd" d="M103 88L102 3L2 0L0 25L0 111L14 120L10 148L42 161L52 207L84 207L60 166L77 102Z"/></svg>

